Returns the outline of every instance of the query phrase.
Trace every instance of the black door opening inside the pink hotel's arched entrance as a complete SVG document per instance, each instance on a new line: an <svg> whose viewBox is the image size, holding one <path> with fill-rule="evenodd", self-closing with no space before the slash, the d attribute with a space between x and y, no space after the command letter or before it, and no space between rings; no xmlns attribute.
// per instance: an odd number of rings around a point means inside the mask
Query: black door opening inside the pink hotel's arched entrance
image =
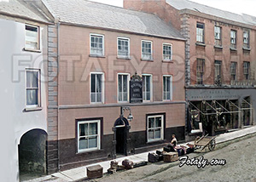
<svg viewBox="0 0 256 182"><path fill-rule="evenodd" d="M116 153L125 155L125 127L116 128Z"/></svg>

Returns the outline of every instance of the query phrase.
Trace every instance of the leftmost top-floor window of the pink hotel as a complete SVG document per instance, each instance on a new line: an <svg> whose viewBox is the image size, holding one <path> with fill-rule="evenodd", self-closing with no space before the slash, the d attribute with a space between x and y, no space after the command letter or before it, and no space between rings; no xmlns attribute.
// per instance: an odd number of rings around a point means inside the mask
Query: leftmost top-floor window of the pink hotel
<svg viewBox="0 0 256 182"><path fill-rule="evenodd" d="M90 54L97 56L104 55L104 36L90 34Z"/></svg>

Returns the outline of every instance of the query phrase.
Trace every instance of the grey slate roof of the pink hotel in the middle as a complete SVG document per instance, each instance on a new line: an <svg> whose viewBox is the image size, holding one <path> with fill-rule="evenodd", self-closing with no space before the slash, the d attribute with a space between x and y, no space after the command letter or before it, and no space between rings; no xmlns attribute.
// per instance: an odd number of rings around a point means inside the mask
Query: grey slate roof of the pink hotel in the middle
<svg viewBox="0 0 256 182"><path fill-rule="evenodd" d="M154 14L86 0L44 0L44 3L61 22L183 39L179 31Z"/></svg>

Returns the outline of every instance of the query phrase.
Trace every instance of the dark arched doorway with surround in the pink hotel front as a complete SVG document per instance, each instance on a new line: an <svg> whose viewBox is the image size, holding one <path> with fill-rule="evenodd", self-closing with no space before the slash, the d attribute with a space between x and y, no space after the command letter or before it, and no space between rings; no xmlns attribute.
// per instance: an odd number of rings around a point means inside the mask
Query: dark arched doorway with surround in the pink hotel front
<svg viewBox="0 0 256 182"><path fill-rule="evenodd" d="M130 152L129 145L129 130L130 130L129 122L125 117L119 117L113 125L113 156L116 155L125 155L127 156Z"/></svg>

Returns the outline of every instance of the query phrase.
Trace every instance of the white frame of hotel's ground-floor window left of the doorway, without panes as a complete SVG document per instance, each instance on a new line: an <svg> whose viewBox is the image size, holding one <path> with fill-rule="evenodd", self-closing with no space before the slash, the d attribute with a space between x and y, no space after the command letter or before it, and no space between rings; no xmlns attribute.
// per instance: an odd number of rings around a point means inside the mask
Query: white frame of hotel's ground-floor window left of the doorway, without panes
<svg viewBox="0 0 256 182"><path fill-rule="evenodd" d="M88 149L79 149L79 139L82 138L80 136L80 133L79 133L79 129L80 129L80 124L90 124L90 123L97 123L97 132L98 134L94 134L93 136L97 136L97 147L94 147L94 148L88 148ZM89 121L79 121L77 122L78 124L78 133L77 133L77 149L78 149L78 153L81 153L81 152L84 152L84 151L96 151L96 150L100 150L101 149L101 120L89 120ZM87 135L87 138L89 137L90 135ZM91 135L92 136L92 135ZM86 136L85 136L86 138Z"/></svg>

